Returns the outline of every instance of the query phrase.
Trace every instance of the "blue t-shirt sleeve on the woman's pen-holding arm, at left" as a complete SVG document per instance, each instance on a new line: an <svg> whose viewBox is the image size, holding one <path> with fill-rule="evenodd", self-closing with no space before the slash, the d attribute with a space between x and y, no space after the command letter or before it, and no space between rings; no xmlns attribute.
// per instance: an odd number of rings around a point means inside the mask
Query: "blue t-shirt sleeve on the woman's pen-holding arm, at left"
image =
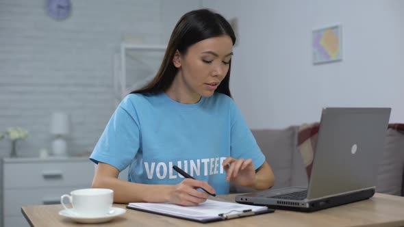
<svg viewBox="0 0 404 227"><path fill-rule="evenodd" d="M140 128L136 109L125 98L112 114L97 142L90 160L125 170L140 148Z"/></svg>

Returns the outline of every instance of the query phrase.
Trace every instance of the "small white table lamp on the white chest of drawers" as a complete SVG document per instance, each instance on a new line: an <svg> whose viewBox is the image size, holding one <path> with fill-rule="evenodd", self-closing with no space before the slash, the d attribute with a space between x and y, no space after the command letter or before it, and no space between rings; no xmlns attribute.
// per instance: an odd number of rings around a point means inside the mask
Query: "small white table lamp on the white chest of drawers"
<svg viewBox="0 0 404 227"><path fill-rule="evenodd" d="M51 116L52 153L55 156L67 156L65 137L69 133L68 116L64 112L55 111Z"/></svg>

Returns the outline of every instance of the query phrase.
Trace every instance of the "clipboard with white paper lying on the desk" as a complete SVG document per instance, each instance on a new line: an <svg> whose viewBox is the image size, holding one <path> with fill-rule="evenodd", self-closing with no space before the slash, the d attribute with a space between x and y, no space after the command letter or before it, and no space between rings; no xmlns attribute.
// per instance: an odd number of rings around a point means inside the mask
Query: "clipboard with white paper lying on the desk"
<svg viewBox="0 0 404 227"><path fill-rule="evenodd" d="M209 209L207 213L203 213L205 212L203 206L206 206L206 211L207 209ZM206 202L200 204L199 207L178 206L175 204L168 204L168 203L153 204L144 202L132 202L129 203L126 206L126 208L201 223L218 222L227 219L251 217L254 215L262 215L265 213L275 212L274 209L269 209L267 206L252 206L232 202L219 202L216 200L207 200ZM215 213L216 211L221 212Z"/></svg>

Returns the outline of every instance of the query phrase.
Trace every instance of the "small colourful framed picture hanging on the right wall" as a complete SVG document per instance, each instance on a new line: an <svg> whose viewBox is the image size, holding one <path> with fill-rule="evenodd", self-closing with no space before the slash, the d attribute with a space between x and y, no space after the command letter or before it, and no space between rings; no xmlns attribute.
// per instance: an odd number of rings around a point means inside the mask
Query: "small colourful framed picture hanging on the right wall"
<svg viewBox="0 0 404 227"><path fill-rule="evenodd" d="M313 64L342 60L341 29L341 25L335 25L313 31Z"/></svg>

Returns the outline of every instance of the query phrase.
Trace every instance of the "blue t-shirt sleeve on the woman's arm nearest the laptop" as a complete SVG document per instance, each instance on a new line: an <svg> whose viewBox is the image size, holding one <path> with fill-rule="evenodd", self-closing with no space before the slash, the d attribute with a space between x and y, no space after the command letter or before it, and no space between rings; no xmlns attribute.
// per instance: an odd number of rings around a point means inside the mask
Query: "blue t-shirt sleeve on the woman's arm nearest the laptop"
<svg viewBox="0 0 404 227"><path fill-rule="evenodd" d="M231 116L231 157L235 159L252 159L255 170L265 161L265 156L262 154L253 133L247 126L240 109L236 103L231 100L230 104Z"/></svg>

